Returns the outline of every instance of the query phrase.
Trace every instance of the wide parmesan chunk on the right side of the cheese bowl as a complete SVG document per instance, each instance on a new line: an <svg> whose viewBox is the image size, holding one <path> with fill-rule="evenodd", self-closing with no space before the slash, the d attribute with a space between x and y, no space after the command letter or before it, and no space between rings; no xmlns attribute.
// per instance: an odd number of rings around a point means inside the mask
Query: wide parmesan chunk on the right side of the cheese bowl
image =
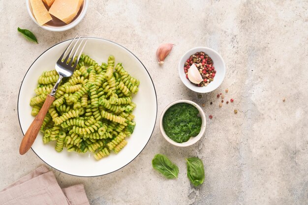
<svg viewBox="0 0 308 205"><path fill-rule="evenodd" d="M77 15L83 0L55 0L49 13L69 24Z"/></svg>

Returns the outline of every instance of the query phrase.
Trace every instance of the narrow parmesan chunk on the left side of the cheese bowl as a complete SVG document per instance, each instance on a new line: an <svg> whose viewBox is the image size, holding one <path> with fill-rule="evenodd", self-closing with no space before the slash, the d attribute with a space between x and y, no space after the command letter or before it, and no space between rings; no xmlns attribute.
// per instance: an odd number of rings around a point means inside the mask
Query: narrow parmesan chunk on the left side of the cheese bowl
<svg viewBox="0 0 308 205"><path fill-rule="evenodd" d="M52 20L42 0L30 0L30 3L34 17L40 26Z"/></svg>

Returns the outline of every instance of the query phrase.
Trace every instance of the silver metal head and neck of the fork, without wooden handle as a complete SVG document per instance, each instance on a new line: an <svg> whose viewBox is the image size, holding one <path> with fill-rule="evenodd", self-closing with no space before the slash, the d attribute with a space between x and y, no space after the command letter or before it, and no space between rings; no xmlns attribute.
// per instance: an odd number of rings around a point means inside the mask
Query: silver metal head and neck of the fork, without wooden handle
<svg viewBox="0 0 308 205"><path fill-rule="evenodd" d="M59 87L63 77L69 77L73 75L73 72L78 64L78 60L80 59L80 56L88 41L88 39L86 38L82 37L78 37L77 39L76 38L77 35L67 46L67 48L65 49L65 51L58 59L55 65L56 71L59 73L59 79L55 84L54 88L52 89L52 91L50 92L51 96L54 96L56 94L57 88ZM73 44L74 41L75 43ZM68 54L66 55L67 52Z"/></svg>

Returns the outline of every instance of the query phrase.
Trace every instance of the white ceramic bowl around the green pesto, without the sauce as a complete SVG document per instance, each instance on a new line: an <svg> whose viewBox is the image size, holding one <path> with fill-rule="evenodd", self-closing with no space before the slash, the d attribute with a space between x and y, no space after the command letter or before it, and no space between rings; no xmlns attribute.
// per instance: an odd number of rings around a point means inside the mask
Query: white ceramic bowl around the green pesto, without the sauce
<svg viewBox="0 0 308 205"><path fill-rule="evenodd" d="M188 104L191 104L193 105L194 107L196 107L199 111L199 117L201 117L202 119L202 124L201 124L201 130L200 130L200 133L196 136L196 137L191 137L187 142L184 142L184 143L177 143L177 142L174 142L173 140L171 140L167 134L165 133L165 130L164 130L164 127L162 125L162 119L166 113L166 111L173 105L175 104L178 104L178 103L188 103ZM170 144L172 145L175 145L175 146L191 146L193 144L195 144L196 142L198 142L202 136L204 135L205 133L205 128L206 128L206 117L205 117L205 114L202 110L202 108L197 105L197 103L193 102L193 101L190 101L190 100L177 100L177 101L174 101L172 103L170 103L161 113L161 116L160 116L160 121L159 121L159 127L160 127L160 132L162 134L162 136L165 138L165 140L167 140L167 142L169 142Z"/></svg>

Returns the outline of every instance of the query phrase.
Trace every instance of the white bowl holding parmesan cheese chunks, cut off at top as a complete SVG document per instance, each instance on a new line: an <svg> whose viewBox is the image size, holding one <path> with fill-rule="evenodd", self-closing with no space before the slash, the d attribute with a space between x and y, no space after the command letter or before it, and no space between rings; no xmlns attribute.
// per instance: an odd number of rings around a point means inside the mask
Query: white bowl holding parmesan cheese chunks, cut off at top
<svg viewBox="0 0 308 205"><path fill-rule="evenodd" d="M26 0L31 19L41 28L50 31L64 31L75 27L86 15L89 0L59 1L61 0ZM80 7L70 6L78 1Z"/></svg>

